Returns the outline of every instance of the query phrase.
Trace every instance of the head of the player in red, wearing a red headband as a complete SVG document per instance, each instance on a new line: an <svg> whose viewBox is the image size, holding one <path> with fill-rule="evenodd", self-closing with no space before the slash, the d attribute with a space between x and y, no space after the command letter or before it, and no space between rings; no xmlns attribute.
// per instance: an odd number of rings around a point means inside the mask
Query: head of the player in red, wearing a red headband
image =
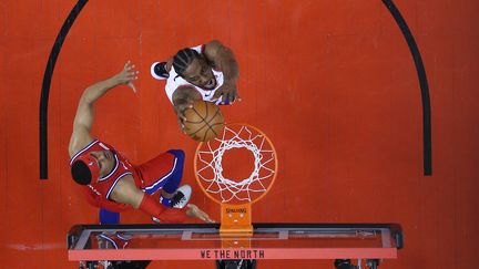
<svg viewBox="0 0 479 269"><path fill-rule="evenodd" d="M91 152L80 155L71 166L73 180L80 185L89 185L92 180L108 175L115 164L110 151Z"/></svg>

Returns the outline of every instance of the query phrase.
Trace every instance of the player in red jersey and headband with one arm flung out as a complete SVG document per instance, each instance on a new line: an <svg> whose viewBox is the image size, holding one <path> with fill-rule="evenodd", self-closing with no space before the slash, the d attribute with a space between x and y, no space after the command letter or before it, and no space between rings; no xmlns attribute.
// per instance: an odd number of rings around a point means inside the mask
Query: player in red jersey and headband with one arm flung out
<svg viewBox="0 0 479 269"><path fill-rule="evenodd" d="M89 203L101 208L101 224L118 224L119 213L129 208L137 208L160 223L182 223L186 216L212 223L206 213L188 204L191 187L179 188L183 151L171 149L142 165L133 165L114 147L90 134L96 100L120 84L135 92L133 81L137 74L129 61L119 74L84 90L69 144L72 177L84 186ZM160 200L155 200L152 195L159 190Z"/></svg>

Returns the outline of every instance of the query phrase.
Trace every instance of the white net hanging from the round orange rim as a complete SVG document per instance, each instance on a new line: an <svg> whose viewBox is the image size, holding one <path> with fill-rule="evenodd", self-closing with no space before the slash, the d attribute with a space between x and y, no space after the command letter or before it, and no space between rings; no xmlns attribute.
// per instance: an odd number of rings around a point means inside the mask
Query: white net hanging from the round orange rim
<svg viewBox="0 0 479 269"><path fill-rule="evenodd" d="M226 177L223 157L231 149L247 151L254 164L249 176ZM214 141L202 143L196 152L196 177L204 190L223 204L252 203L272 186L277 168L269 139L257 128L227 125ZM237 159L241 168L242 161ZM243 173L244 174L244 173Z"/></svg>

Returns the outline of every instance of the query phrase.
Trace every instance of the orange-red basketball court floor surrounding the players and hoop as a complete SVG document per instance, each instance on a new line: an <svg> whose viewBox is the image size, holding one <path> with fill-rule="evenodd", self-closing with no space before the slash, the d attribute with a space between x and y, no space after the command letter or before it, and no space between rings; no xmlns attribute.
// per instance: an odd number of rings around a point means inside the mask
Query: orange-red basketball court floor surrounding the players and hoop
<svg viewBox="0 0 479 269"><path fill-rule="evenodd" d="M232 48L241 66L243 101L223 108L226 120L258 126L277 147L276 185L255 205L254 221L399 223L406 248L380 268L476 265L477 1L396 3L429 79L429 177L422 176L416 70L379 0L90 1L54 70L49 179L41 182L40 89L53 41L74 4L0 2L0 268L78 268L67 260L65 234L74 224L94 223L96 210L69 177L75 105L84 87L119 72L126 60L141 71L140 93L124 86L111 91L96 105L94 133L136 163L184 148L184 180L195 184L196 144L179 131L164 84L149 75L149 68L211 39ZM217 219L216 206L201 192L193 200ZM123 220L147 217L131 211ZM152 268L186 265L154 262ZM330 261L262 261L261 268L293 265L332 268Z"/></svg>

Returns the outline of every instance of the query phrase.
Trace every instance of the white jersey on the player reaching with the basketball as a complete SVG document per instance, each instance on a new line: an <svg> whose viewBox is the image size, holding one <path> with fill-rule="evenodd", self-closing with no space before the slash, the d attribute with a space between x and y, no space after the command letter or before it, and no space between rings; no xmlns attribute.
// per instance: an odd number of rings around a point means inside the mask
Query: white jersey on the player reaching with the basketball
<svg viewBox="0 0 479 269"><path fill-rule="evenodd" d="M201 53L203 53L204 45L197 45L197 46L193 46L191 49L195 50L197 53L201 54ZM194 85L194 84L185 81L183 77L181 77L176 73L174 66L172 66L171 70L170 70L170 77L166 80L166 85L165 85L166 96L169 97L170 102L173 104L173 93L179 87L182 87L182 86L193 86L202 95L202 97L203 97L204 101L213 102L212 101L213 95L216 92L216 90L220 86L223 85L224 76L223 76L223 72L221 72L221 71L216 71L214 69L212 69L212 71L213 71L213 75L214 75L214 77L216 80L216 87L214 90L212 90L212 91L207 91L207 90L201 89L201 87L198 87L198 86L196 86L196 85ZM222 103L221 100L222 99L220 97L216 101L216 104Z"/></svg>

